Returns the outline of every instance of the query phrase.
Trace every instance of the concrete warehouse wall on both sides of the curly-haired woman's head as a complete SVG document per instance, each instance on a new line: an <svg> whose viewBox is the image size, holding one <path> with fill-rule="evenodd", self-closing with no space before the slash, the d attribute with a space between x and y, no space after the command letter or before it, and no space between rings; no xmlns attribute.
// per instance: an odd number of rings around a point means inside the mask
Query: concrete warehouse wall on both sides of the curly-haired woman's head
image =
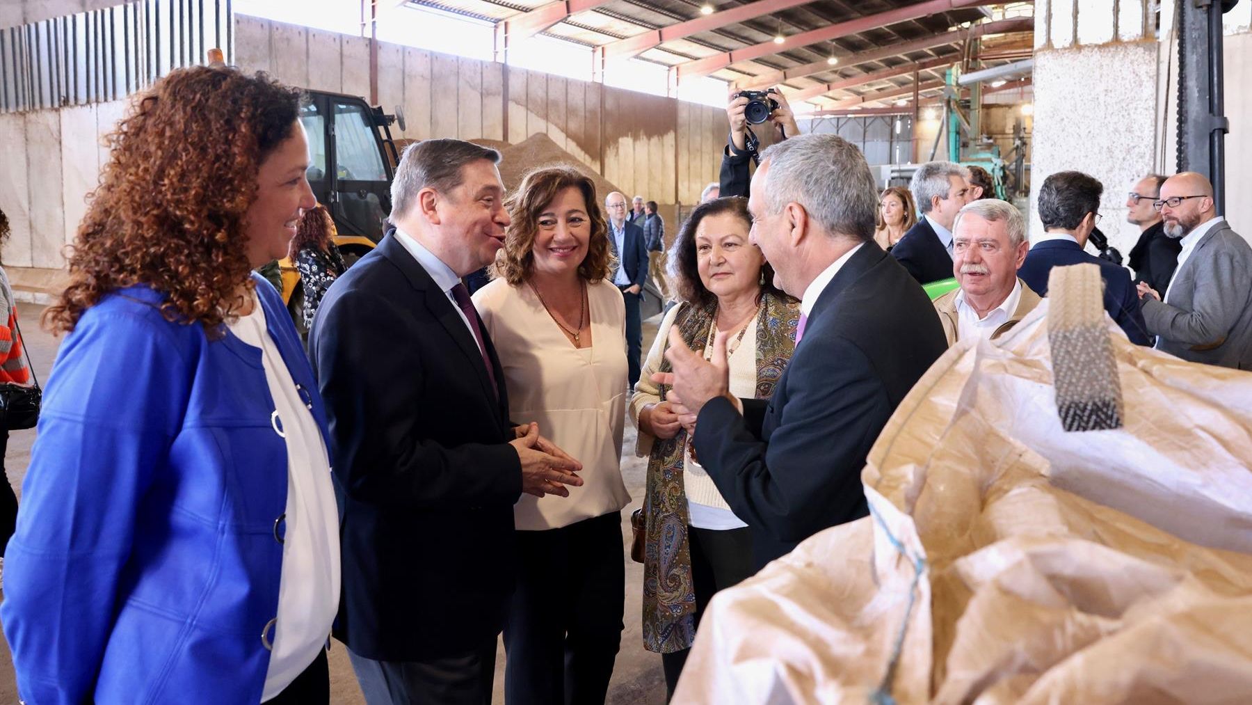
<svg viewBox="0 0 1252 705"><path fill-rule="evenodd" d="M14 14L14 6L0 8ZM81 9L81 1L65 3L65 11ZM21 21L45 19L28 15ZM235 31L242 68L368 98L364 39L250 16L237 16ZM396 136L516 144L545 133L627 198L657 200L670 237L677 232L676 204L696 203L717 180L727 130L726 113L717 108L393 44L379 48L379 103L404 108L408 131ZM125 105L0 114L0 209L13 227L3 260L20 288L58 291L64 245L74 240L106 159L100 140Z"/></svg>

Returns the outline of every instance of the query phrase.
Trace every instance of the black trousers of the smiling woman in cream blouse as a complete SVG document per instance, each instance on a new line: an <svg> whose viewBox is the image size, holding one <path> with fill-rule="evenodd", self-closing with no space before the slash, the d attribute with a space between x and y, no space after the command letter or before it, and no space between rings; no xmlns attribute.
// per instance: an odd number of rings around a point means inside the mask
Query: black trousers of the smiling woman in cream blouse
<svg viewBox="0 0 1252 705"><path fill-rule="evenodd" d="M603 702L626 602L621 513L517 537L521 571L505 622L505 701Z"/></svg>

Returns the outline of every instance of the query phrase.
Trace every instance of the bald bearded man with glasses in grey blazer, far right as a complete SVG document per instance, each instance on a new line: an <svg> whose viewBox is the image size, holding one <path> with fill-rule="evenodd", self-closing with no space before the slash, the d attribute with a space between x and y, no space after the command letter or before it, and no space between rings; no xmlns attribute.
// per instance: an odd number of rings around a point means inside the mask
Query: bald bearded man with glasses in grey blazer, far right
<svg viewBox="0 0 1252 705"><path fill-rule="evenodd" d="M1164 301L1139 284L1143 321L1156 348L1191 362L1252 369L1252 247L1217 214L1213 185L1183 172L1153 205L1166 235L1182 239Z"/></svg>

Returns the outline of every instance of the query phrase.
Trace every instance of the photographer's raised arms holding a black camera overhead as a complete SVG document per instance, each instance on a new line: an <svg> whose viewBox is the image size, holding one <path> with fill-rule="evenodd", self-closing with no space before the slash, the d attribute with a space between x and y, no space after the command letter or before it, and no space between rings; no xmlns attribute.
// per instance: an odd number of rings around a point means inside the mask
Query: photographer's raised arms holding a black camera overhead
<svg viewBox="0 0 1252 705"><path fill-rule="evenodd" d="M771 123L774 125L772 143L800 134L800 128L795 124L791 106L788 105L786 98L777 88L764 91L731 91L730 103L726 105L726 118L730 120L730 140L721 155L721 197L741 195L747 198L749 182L751 180L747 162L754 159L759 150L756 135L751 134L750 125Z"/></svg>

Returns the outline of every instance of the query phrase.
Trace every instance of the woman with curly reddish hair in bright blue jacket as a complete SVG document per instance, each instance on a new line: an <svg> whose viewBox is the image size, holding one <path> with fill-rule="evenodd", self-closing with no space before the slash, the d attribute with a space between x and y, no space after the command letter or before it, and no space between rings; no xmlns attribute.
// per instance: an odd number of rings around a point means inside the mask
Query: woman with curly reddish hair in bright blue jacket
<svg viewBox="0 0 1252 705"><path fill-rule="evenodd" d="M339 543L313 373L278 293L313 208L299 94L172 71L110 136L0 607L30 702L327 702Z"/></svg>

